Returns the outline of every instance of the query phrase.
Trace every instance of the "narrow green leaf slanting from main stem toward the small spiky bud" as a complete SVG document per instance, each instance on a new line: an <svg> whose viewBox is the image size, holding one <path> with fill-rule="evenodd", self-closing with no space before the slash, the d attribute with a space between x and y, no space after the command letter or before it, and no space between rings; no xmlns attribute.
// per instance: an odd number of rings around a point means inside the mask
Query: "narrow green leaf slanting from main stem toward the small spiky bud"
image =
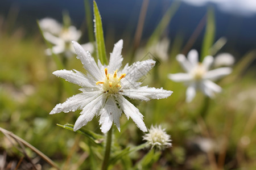
<svg viewBox="0 0 256 170"><path fill-rule="evenodd" d="M109 164L115 164L119 159L121 159L123 156L130 154L131 152L136 152L138 150L141 150L142 148L146 147L146 144L142 144L133 148L127 147L121 152L118 152L114 156L112 156L112 159L109 160Z"/></svg>

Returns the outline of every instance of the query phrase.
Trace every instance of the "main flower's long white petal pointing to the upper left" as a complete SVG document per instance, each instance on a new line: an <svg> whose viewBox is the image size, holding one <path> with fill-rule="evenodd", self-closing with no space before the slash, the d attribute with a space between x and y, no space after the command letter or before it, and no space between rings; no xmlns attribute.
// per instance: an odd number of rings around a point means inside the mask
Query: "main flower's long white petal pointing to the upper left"
<svg viewBox="0 0 256 170"><path fill-rule="evenodd" d="M88 73L92 75L96 81L104 79L104 73L101 73L96 62L94 61L94 58L90 56L90 53L85 52L82 46L78 44L76 41L72 41L72 43L75 48L77 58L81 60L85 70L88 71Z"/></svg>

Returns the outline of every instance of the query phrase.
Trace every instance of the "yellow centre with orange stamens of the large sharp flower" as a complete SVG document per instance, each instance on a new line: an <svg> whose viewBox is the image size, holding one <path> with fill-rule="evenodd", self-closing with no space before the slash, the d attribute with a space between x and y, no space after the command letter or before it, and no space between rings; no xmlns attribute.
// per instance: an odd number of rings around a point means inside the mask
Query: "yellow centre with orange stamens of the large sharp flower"
<svg viewBox="0 0 256 170"><path fill-rule="evenodd" d="M114 74L109 74L108 69L105 68L105 79L102 82L96 82L96 85L102 84L102 89L104 92L109 92L111 94L117 93L121 89L120 80L125 77L126 74L121 74L117 77L117 70L114 71Z"/></svg>

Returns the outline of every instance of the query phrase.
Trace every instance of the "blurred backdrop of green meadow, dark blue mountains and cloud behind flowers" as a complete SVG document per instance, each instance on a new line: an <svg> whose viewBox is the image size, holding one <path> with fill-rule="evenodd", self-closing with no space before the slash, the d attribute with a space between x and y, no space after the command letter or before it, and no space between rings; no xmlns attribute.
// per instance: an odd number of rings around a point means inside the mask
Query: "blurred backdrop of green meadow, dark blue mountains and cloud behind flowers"
<svg viewBox="0 0 256 170"><path fill-rule="evenodd" d="M100 165L103 152L93 145L90 148L88 138L56 126L74 124L80 111L49 116L57 103L79 93L79 86L52 75L59 70L56 58L63 61L64 56L46 55L49 46L36 21L47 17L63 23L63 14L69 14L72 25L82 31L80 44L92 41L93 33L89 32L92 25L88 20L93 19L93 1L85 2L89 3L85 5L83 0L0 1L0 128L31 143L61 169L93 169L90 165ZM172 138L172 148L157 152L154 159L146 163L142 158L148 150L140 150L126 156L129 158L126 163L117 162L113 169L125 166L126 169L256 169L256 1L108 0L97 1L97 5L107 54L119 39L124 41L123 64L152 58L146 55L151 52L159 64L143 83L174 91L168 99L133 101L144 115L147 128L152 124L166 128ZM212 25L207 32L209 23ZM186 103L186 87L172 82L167 75L183 72L176 55L187 55L191 49L201 54L205 37L213 37L213 44L218 42L214 57L230 53L236 62L232 74L217 82L223 88L221 94L209 100L199 93L191 103ZM163 39L170 43L159 46L152 41ZM65 69L85 72L75 55L65 58ZM207 114L202 118L200 113L204 111ZM101 134L98 118L84 129ZM115 130L114 135L118 151L144 142L142 131L125 116L121 118L121 133ZM0 170L8 169L7 165L15 169L20 160L20 169L29 169L30 160L18 146L0 133ZM97 154L91 154L92 150ZM26 154L33 158L38 169L52 167L28 148Z"/></svg>

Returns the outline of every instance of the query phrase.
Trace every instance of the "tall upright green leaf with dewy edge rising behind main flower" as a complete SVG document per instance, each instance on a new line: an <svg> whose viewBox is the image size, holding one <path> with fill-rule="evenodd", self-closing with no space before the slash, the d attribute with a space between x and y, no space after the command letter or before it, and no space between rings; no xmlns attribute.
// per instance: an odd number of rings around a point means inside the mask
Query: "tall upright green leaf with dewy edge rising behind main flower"
<svg viewBox="0 0 256 170"><path fill-rule="evenodd" d="M107 64L106 59L106 48L104 41L104 34L102 29L101 15L98 11L98 6L95 1L93 1L93 11L94 11L94 33L96 39L96 49L97 56L100 59L102 64Z"/></svg>

